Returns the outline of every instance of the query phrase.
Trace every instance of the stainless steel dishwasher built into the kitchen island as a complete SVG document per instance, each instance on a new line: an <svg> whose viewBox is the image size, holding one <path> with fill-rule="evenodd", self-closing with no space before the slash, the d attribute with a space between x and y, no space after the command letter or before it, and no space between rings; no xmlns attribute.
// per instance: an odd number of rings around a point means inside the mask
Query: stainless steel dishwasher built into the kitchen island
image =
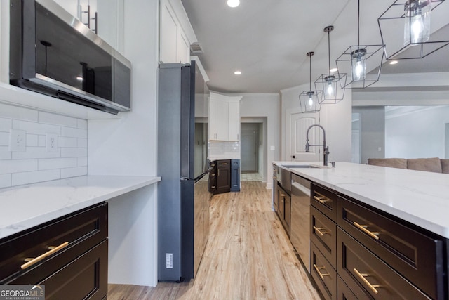
<svg viewBox="0 0 449 300"><path fill-rule="evenodd" d="M310 181L292 174L290 242L310 273Z"/></svg>

